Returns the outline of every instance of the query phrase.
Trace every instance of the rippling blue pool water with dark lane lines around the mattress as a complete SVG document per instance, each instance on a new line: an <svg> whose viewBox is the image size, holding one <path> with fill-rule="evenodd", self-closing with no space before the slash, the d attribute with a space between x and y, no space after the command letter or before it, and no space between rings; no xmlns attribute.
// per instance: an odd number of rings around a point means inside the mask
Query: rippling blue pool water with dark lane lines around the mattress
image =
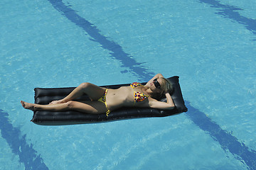
<svg viewBox="0 0 256 170"><path fill-rule="evenodd" d="M1 1L0 169L256 169L255 1ZM39 126L35 87L180 77L187 113Z"/></svg>

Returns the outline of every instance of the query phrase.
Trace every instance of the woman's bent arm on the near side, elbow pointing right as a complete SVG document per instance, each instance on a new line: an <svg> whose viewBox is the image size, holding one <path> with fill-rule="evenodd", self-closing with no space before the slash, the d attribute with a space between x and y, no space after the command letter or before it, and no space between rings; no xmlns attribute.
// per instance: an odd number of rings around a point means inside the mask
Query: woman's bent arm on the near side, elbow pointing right
<svg viewBox="0 0 256 170"><path fill-rule="evenodd" d="M171 110L174 109L174 101L171 98L171 95L169 93L166 93L166 99L167 102L157 101L154 98L149 99L149 107L150 108L158 108L158 109L164 109L164 110Z"/></svg>

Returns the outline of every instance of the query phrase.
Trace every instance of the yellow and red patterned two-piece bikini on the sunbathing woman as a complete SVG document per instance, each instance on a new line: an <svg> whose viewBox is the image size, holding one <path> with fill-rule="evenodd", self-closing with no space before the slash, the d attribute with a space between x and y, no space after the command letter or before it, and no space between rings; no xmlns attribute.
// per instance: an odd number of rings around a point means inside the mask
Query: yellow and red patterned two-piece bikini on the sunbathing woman
<svg viewBox="0 0 256 170"><path fill-rule="evenodd" d="M132 89L134 89L137 86L143 86L143 85L140 83L134 82L134 83L130 84L130 86L132 87ZM101 98L98 99L98 101L105 103L105 106L107 108L106 115L108 116L110 114L110 110L107 107L106 96L107 96L107 89L106 89L105 93L101 96ZM137 102L144 101L148 97L149 96L146 96L146 94L143 94L142 92L134 91L134 105Z"/></svg>

